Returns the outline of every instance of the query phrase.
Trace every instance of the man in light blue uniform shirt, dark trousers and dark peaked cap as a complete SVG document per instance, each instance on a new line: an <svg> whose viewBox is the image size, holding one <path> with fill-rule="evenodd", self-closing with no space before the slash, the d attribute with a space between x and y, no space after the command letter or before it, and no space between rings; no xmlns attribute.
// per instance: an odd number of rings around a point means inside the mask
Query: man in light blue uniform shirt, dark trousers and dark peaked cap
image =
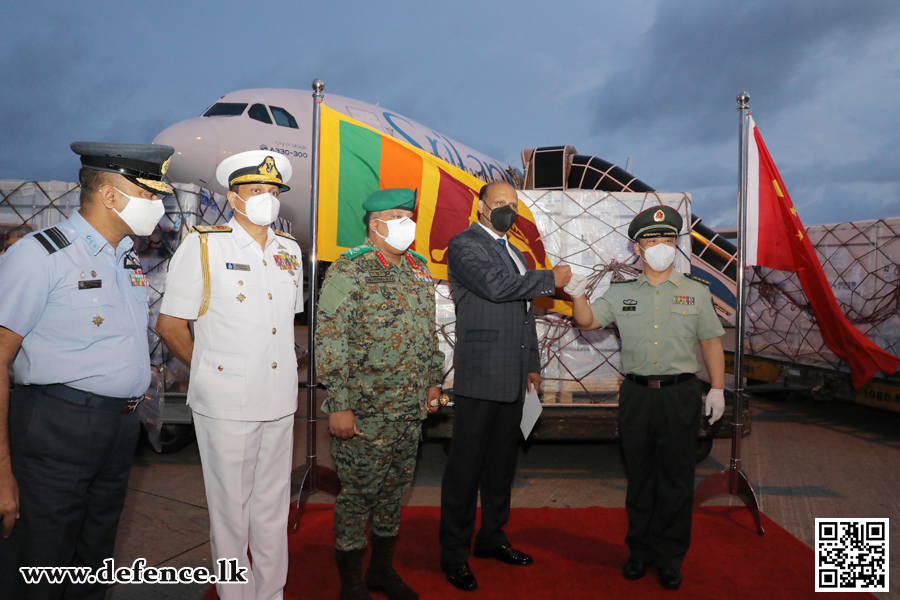
<svg viewBox="0 0 900 600"><path fill-rule="evenodd" d="M174 149L72 150L80 208L0 260L0 596L17 600L104 596L97 583L24 585L19 567L112 558L140 431L134 409L150 385L147 278L128 236L150 234L165 213Z"/></svg>

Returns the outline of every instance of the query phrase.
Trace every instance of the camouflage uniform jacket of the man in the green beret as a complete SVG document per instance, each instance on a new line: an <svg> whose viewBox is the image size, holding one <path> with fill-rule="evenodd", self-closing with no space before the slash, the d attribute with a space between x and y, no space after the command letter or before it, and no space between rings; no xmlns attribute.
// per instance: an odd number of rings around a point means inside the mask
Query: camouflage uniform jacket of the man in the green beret
<svg viewBox="0 0 900 600"><path fill-rule="evenodd" d="M328 388L323 411L424 419L426 390L443 383L443 367L422 256L408 251L393 265L360 246L332 263L316 314L316 369Z"/></svg>

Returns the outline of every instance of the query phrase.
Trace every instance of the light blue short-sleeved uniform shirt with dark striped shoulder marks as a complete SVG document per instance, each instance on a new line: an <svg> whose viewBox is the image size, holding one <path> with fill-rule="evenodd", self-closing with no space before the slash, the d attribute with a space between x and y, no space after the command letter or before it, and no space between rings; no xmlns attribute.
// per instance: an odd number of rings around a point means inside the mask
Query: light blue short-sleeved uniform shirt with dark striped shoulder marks
<svg viewBox="0 0 900 600"><path fill-rule="evenodd" d="M126 268L138 264L131 238L113 249L77 212L55 229L44 243L40 233L28 235L0 258L0 325L24 338L16 383L143 395L150 385L147 280L140 268Z"/></svg>

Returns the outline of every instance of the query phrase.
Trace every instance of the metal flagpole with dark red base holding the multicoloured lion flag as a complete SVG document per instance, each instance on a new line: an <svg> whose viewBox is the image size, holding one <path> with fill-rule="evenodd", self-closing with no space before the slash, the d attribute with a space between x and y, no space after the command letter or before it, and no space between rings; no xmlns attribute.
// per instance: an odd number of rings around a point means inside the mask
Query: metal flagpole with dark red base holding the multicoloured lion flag
<svg viewBox="0 0 900 600"><path fill-rule="evenodd" d="M325 492L337 496L341 491L341 482L337 474L327 467L317 464L316 458L316 304L319 294L318 266L318 221L319 221L319 140L322 122L322 100L325 84L321 79L312 82L313 89L313 130L312 149L310 152L310 198L309 198L309 314L307 314L306 349L309 364L306 369L306 466L300 494L294 507L289 530L296 532L300 527L300 517L306 508L306 501L316 492ZM303 387L303 384L300 384ZM299 471L303 467L298 467Z"/></svg>

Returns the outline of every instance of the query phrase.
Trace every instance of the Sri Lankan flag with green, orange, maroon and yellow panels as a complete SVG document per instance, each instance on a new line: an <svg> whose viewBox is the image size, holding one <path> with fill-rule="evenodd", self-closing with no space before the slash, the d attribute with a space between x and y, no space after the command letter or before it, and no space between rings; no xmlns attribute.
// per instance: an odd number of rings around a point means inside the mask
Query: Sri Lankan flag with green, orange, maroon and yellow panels
<svg viewBox="0 0 900 600"><path fill-rule="evenodd" d="M319 148L319 260L332 262L363 243L362 203L369 194L405 187L419 190L413 249L428 259L432 277L447 279L447 245L477 219L484 182L324 105ZM530 268L551 267L534 216L521 202L509 239Z"/></svg>

